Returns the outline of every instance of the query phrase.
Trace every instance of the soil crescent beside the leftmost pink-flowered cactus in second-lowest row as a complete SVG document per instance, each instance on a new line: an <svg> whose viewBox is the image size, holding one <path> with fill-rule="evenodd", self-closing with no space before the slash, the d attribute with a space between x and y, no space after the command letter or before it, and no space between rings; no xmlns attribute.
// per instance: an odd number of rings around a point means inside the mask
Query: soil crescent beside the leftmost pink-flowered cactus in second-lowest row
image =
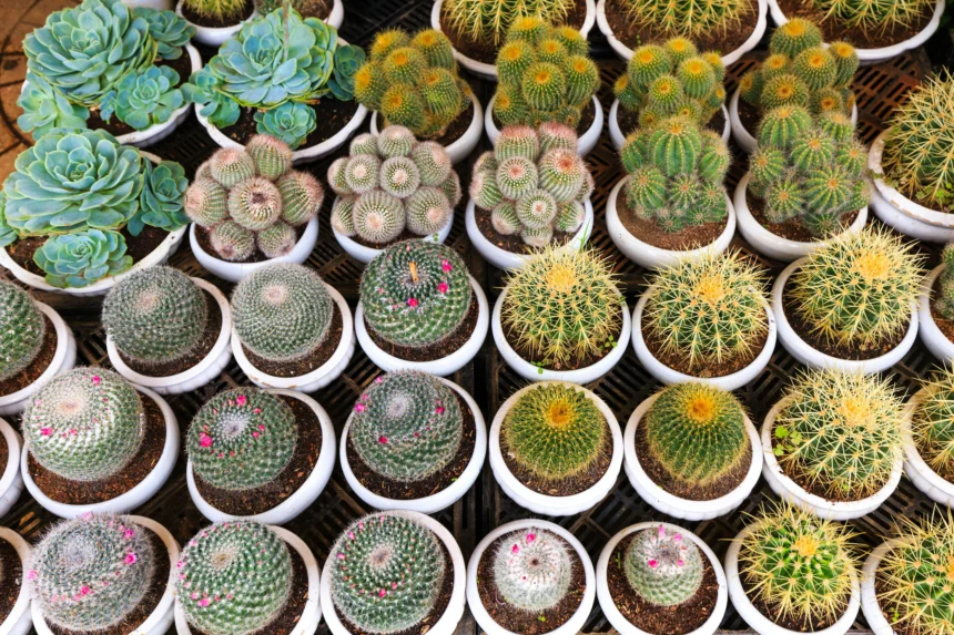
<svg viewBox="0 0 954 635"><path fill-rule="evenodd" d="M58 503L91 505L112 500L140 484L159 463L165 448L165 417L151 397L139 393L145 412L142 445L125 468L100 481L71 481L42 467L33 454L27 457L27 470L37 487Z"/></svg>

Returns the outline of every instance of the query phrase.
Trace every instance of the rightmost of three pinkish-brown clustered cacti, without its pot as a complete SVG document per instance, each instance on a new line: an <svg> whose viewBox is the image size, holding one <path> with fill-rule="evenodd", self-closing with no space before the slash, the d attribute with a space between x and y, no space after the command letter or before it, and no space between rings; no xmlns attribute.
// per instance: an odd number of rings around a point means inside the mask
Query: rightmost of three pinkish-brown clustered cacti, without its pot
<svg viewBox="0 0 954 635"><path fill-rule="evenodd" d="M531 247L549 245L555 231L577 232L592 190L592 175L577 155L577 134L559 123L536 131L505 127L494 151L474 164L470 180L470 198L490 212L494 229L519 234Z"/></svg>

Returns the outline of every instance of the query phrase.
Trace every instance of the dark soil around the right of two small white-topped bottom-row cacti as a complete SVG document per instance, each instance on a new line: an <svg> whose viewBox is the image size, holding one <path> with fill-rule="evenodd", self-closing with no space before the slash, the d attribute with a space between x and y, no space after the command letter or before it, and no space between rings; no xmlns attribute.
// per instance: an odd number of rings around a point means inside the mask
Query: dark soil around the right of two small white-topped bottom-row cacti
<svg viewBox="0 0 954 635"><path fill-rule="evenodd" d="M702 582L696 595L674 606L658 606L643 600L633 591L626 577L626 551L639 532L633 532L619 541L609 556L606 580L612 603L626 619L637 628L653 635L686 635L696 631L709 619L719 596L719 581L712 563L702 553L704 567Z"/></svg>

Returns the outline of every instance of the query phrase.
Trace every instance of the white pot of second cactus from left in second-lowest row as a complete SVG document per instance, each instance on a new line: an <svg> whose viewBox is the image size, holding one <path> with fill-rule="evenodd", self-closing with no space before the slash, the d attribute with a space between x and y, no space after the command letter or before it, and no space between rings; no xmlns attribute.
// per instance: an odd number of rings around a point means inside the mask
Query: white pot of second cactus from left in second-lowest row
<svg viewBox="0 0 954 635"><path fill-rule="evenodd" d="M292 519L297 518L298 514L314 503L325 489L325 485L328 483L328 479L332 477L332 470L335 467L335 428L332 426L332 419L328 417L328 413L325 412L325 409L307 395L303 395L295 390L270 388L265 390L265 392L297 399L315 412L315 416L318 418L318 424L322 427L322 448L318 451L318 460L315 463L312 473L308 474L305 481L292 493L292 495L271 510L258 514L250 514L247 516L236 516L223 512L222 510L212 506L212 503L203 499L202 494L199 492L199 488L195 485L195 473L192 467L192 461L189 461L185 464L185 484L189 488L189 495L192 498L192 502L195 503L200 513L213 523L246 520L265 524L284 524Z"/></svg>

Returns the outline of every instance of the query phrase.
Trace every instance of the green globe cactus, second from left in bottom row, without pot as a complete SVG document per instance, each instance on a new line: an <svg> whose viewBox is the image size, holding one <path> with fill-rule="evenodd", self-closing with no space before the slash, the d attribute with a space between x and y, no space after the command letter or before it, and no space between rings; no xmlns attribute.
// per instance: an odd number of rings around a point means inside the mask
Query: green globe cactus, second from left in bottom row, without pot
<svg viewBox="0 0 954 635"><path fill-rule="evenodd" d="M292 594L288 547L266 525L207 526L182 550L175 591L185 618L209 635L248 635L281 615Z"/></svg>

